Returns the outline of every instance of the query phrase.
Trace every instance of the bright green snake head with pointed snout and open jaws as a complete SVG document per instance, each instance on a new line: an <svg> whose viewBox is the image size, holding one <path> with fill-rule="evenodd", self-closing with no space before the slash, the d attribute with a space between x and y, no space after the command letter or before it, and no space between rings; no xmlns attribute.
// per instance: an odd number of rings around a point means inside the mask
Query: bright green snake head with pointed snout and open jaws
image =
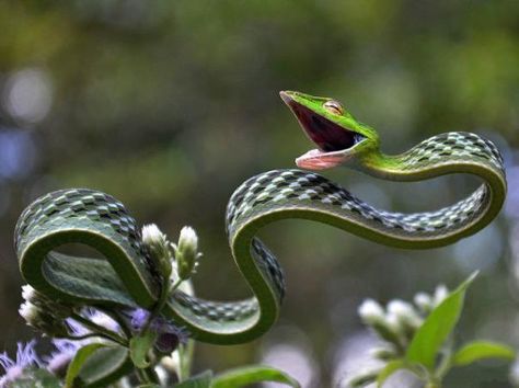
<svg viewBox="0 0 519 388"><path fill-rule="evenodd" d="M378 147L377 133L356 121L338 101L295 91L281 91L279 95L318 146L296 159L298 167L330 169Z"/></svg>

